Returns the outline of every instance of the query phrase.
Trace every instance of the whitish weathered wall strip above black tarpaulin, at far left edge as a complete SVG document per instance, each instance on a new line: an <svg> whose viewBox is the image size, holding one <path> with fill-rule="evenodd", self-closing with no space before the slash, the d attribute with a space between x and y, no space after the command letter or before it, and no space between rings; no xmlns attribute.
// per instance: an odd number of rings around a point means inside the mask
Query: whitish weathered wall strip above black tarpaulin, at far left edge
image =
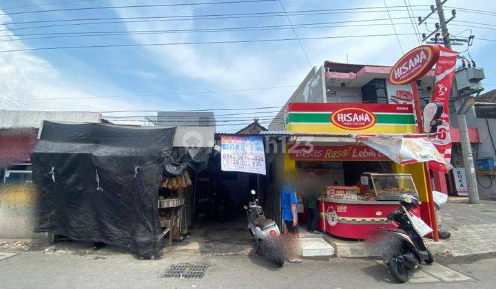
<svg viewBox="0 0 496 289"><path fill-rule="evenodd" d="M0 127L40 127L43 120L66 122L101 122L101 114L87 111L17 111L1 110Z"/></svg>

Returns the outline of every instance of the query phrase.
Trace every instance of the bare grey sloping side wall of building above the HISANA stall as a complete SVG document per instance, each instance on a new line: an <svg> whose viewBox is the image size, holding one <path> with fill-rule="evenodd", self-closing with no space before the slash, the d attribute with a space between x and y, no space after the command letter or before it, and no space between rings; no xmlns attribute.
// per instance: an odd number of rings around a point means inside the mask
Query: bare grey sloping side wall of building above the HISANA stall
<svg viewBox="0 0 496 289"><path fill-rule="evenodd" d="M324 66L314 66L298 88L291 94L284 107L278 112L269 125L269 130L284 129L281 120L284 118L285 108L288 103L325 103L325 74Z"/></svg>

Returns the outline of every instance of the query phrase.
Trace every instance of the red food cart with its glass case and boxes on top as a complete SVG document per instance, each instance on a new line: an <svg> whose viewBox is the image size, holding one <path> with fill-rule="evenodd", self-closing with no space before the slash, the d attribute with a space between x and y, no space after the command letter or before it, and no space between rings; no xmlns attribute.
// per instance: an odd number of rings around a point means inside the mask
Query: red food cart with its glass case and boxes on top
<svg viewBox="0 0 496 289"><path fill-rule="evenodd" d="M327 186L327 196L318 199L318 228L349 239L365 239L379 227L397 228L386 216L403 194L418 198L409 173L364 173L357 186ZM418 209L411 212L420 217Z"/></svg>

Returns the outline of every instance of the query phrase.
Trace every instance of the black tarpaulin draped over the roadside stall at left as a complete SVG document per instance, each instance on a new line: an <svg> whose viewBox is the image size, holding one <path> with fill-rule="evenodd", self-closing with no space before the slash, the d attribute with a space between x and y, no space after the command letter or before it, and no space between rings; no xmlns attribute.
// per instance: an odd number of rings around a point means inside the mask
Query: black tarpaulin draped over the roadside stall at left
<svg viewBox="0 0 496 289"><path fill-rule="evenodd" d="M208 159L207 148L173 148L176 128L44 121L32 152L37 232L156 255L158 186Z"/></svg>

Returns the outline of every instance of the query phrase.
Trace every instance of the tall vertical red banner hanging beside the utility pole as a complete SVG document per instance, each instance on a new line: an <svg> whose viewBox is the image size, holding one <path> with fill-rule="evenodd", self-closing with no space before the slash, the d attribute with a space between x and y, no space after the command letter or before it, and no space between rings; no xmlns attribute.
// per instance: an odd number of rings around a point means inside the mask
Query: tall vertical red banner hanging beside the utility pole
<svg viewBox="0 0 496 289"><path fill-rule="evenodd" d="M437 151L441 153L448 164L451 160L451 137L449 127L448 101L451 92L451 83L455 76L458 52L439 46L440 56L437 58L435 69L435 87L432 103L442 103L444 106L440 120L442 125L437 127L437 134L431 138ZM438 170L438 164L429 162L430 169Z"/></svg>

